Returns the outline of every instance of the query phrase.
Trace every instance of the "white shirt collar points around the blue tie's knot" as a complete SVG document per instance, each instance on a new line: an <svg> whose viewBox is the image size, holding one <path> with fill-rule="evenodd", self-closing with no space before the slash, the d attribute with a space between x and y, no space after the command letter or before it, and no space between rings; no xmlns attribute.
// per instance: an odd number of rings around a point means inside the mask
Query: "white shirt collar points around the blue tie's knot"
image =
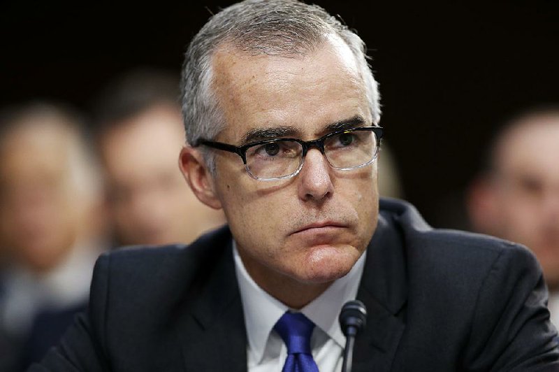
<svg viewBox="0 0 559 372"><path fill-rule="evenodd" d="M314 324L322 329L338 345L344 348L345 336L337 320L344 303L355 299L363 267L366 251L361 255L351 271L346 276L335 280L324 293L299 311L305 314ZM235 272L239 283L242 308L245 314L245 327L249 348L254 352L256 360L263 357L268 336L275 323L289 310L289 307L270 296L254 282L245 265L242 264L237 245L233 241L233 256L235 258Z"/></svg>

